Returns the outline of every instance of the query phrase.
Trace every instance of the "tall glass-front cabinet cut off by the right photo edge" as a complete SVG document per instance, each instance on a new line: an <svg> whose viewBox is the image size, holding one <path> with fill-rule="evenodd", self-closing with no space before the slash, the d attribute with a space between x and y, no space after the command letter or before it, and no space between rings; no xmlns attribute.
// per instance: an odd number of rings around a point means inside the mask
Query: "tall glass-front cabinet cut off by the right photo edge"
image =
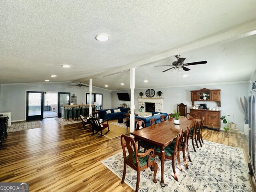
<svg viewBox="0 0 256 192"><path fill-rule="evenodd" d="M249 168L256 181L256 89L249 93Z"/></svg>

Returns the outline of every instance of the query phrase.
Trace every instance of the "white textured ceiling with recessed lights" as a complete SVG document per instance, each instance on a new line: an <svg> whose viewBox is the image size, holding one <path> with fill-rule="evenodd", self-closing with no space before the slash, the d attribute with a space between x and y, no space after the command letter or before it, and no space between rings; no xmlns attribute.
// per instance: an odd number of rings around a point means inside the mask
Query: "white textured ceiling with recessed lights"
<svg viewBox="0 0 256 192"><path fill-rule="evenodd" d="M255 9L255 0L1 1L0 83L74 81L96 76L254 21ZM98 42L95 36L99 33L109 34L110 39ZM177 53L186 62L208 61L204 66L191 67L194 81L189 83L207 82L198 78L202 73L212 77L211 83L224 81L223 76L230 77L225 81L250 80L255 72L255 37L241 43L243 40ZM174 60L170 57L156 63ZM244 63L254 69L241 67ZM71 68L62 68L63 64ZM238 68L231 68L234 65ZM220 70L222 67L226 69ZM152 82L164 78L168 86L169 75L161 71L150 64L137 68L136 74L143 79L151 77ZM122 89L116 80L127 85L129 72L125 73L104 77L103 81L95 79L93 84L104 88L104 80L108 80L110 90ZM57 77L51 78L51 74ZM143 88L144 84L138 81L136 87Z"/></svg>

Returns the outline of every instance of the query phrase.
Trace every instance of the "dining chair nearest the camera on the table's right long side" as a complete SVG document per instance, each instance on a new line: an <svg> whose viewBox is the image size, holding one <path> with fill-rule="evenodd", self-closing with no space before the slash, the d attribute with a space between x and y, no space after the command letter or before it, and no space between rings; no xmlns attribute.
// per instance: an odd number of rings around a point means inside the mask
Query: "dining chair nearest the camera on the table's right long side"
<svg viewBox="0 0 256 192"><path fill-rule="evenodd" d="M165 158L169 159L169 160L172 160L172 171L174 173L174 179L176 181L178 181L178 177L177 177L177 174L176 174L176 171L175 171L175 162L174 162L174 160L176 158L178 160L179 169L180 169L180 171L182 171L182 167L180 165L180 144L181 144L181 141L182 141L182 135L183 135L182 133L183 133L183 130L180 130L177 137L176 137L176 142L175 142L174 148L171 147L170 145L168 145L166 148L164 148ZM160 148L158 148L158 147L155 148L154 152L155 152L154 156L158 155L158 156L161 157ZM164 159L162 159L162 161L164 161Z"/></svg>

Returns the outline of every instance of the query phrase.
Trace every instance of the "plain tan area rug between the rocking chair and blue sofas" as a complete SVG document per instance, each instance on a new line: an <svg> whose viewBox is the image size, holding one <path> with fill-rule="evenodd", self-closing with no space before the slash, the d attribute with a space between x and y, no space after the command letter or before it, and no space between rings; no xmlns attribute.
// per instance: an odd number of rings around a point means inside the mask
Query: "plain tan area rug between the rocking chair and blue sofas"
<svg viewBox="0 0 256 192"><path fill-rule="evenodd" d="M114 139L114 138L120 137L122 134L126 134L126 123L118 123L116 122L116 120L114 120L114 121L108 121L108 125L109 125L110 131L104 136L109 139ZM103 130L103 134L106 131L107 129ZM128 128L128 133L129 132L130 132L130 129Z"/></svg>

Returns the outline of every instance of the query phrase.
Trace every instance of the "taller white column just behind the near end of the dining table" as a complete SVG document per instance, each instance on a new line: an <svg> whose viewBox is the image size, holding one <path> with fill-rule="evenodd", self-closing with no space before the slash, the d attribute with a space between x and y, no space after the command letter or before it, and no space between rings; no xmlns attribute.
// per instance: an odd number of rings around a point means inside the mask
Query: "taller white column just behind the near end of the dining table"
<svg viewBox="0 0 256 192"><path fill-rule="evenodd" d="M130 89L131 89L130 132L134 131L134 88L135 88L135 68L130 68Z"/></svg>

